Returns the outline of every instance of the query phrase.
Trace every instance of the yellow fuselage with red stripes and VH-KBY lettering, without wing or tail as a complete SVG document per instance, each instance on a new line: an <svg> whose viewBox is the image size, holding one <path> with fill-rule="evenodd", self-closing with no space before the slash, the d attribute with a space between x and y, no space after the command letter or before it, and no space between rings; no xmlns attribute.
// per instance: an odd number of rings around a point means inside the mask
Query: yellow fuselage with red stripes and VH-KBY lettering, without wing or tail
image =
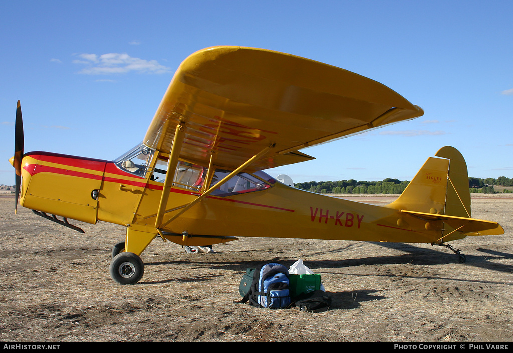
<svg viewBox="0 0 513 353"><path fill-rule="evenodd" d="M177 172L178 173L178 172ZM48 153L26 153L22 162L24 207L87 223L105 221L156 233L163 183L134 175L114 162ZM442 225L375 206L295 189L269 178L265 188L210 194L162 230L204 236L303 238L433 243ZM177 183L164 223L201 194ZM459 236L458 238L461 238ZM448 239L450 240L450 239Z"/></svg>

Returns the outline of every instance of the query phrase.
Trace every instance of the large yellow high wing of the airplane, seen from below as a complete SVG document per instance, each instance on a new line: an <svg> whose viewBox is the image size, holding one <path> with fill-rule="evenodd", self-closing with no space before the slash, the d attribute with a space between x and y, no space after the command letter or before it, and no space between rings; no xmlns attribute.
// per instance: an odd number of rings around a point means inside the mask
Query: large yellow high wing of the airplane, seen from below
<svg viewBox="0 0 513 353"><path fill-rule="evenodd" d="M356 73L271 50L218 46L176 70L143 142L169 152L185 126L180 158L235 168L273 146L249 169L313 159L301 148L410 120L424 113Z"/></svg>

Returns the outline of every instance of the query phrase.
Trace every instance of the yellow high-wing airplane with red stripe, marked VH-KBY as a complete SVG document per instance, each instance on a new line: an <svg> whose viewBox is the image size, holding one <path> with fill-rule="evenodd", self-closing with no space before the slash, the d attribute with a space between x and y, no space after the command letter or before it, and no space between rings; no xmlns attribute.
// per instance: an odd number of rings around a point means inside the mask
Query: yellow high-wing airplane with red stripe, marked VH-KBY
<svg viewBox="0 0 513 353"><path fill-rule="evenodd" d="M68 219L126 227L110 275L141 280L155 238L208 246L236 237L428 243L503 234L471 218L467 167L443 147L402 195L373 206L298 190L262 170L313 159L298 150L424 111L356 73L290 54L210 47L181 64L141 144L114 161L23 153L16 109L16 200L72 229ZM63 220L57 219L63 217Z"/></svg>

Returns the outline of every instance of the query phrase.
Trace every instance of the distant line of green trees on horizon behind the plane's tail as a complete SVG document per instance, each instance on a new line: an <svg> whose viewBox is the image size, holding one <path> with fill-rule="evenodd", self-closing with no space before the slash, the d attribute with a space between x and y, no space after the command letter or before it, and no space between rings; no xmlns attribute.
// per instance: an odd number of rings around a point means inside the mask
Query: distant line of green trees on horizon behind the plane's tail
<svg viewBox="0 0 513 353"><path fill-rule="evenodd" d="M409 181L386 178L382 181L356 181L354 179L336 182L304 182L294 183L294 187L316 193L368 193L368 194L400 194L406 189ZM496 186L513 186L513 179L506 177L495 178L468 178L468 185L472 193L497 193ZM513 190L504 189L504 193L513 193Z"/></svg>

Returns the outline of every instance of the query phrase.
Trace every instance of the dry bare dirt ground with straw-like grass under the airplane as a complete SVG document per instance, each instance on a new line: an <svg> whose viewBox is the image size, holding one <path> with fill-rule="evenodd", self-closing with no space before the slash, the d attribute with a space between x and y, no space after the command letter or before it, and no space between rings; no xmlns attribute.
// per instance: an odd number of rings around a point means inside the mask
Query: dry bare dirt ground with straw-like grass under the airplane
<svg viewBox="0 0 513 353"><path fill-rule="evenodd" d="M465 264L419 244L242 238L187 254L155 240L132 286L109 277L123 227L74 222L80 234L27 209L14 215L14 199L0 199L0 341L510 342L513 198L483 196L472 199L472 216L506 233L453 243ZM321 274L329 311L233 303L246 268L297 259Z"/></svg>

